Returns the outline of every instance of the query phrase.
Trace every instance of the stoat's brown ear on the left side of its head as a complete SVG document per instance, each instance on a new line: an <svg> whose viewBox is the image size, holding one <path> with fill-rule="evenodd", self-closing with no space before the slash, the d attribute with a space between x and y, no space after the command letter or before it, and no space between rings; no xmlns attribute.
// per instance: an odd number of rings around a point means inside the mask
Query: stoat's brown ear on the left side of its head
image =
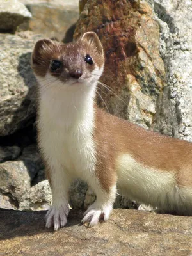
<svg viewBox="0 0 192 256"><path fill-rule="evenodd" d="M42 57L45 57L46 52L47 54L52 52L54 44L49 39L38 40L31 54L31 65L40 65L42 63Z"/></svg>

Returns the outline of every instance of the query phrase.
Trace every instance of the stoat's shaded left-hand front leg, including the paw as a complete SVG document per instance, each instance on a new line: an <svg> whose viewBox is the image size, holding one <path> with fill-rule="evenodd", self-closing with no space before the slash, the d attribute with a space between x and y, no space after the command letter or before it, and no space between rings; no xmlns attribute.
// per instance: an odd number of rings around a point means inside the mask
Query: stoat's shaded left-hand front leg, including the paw
<svg viewBox="0 0 192 256"><path fill-rule="evenodd" d="M68 188L71 179L68 177L66 170L58 166L47 169L47 177L52 190L52 206L45 216L46 227L54 226L54 230L58 230L58 228L67 224L67 216L70 211Z"/></svg>

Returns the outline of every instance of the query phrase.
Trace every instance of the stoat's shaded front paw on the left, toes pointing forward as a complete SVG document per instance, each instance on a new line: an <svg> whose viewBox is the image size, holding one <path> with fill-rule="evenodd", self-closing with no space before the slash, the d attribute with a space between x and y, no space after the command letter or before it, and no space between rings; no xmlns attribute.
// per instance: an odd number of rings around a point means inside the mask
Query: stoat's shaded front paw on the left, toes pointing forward
<svg viewBox="0 0 192 256"><path fill-rule="evenodd" d="M67 224L67 216L69 212L68 204L54 207L53 205L45 215L46 227L54 226L54 230L64 227Z"/></svg>

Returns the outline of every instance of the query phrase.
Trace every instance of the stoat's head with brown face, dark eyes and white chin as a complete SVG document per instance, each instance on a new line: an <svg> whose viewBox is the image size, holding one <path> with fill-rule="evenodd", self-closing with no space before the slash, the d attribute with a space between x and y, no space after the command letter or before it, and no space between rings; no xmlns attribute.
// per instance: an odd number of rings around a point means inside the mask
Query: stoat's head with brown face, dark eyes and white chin
<svg viewBox="0 0 192 256"><path fill-rule="evenodd" d="M46 80L50 86L63 88L92 86L102 75L104 51L94 32L84 33L77 42L69 44L43 39L36 42L31 67L40 86Z"/></svg>

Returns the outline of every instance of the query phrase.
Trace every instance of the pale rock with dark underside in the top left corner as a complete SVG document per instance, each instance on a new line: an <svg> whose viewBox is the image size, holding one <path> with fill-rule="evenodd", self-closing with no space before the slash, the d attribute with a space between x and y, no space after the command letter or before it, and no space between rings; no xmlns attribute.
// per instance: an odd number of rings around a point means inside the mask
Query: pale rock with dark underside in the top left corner
<svg viewBox="0 0 192 256"><path fill-rule="evenodd" d="M17 26L32 17L24 4L17 0L0 0L0 31L15 32Z"/></svg>

